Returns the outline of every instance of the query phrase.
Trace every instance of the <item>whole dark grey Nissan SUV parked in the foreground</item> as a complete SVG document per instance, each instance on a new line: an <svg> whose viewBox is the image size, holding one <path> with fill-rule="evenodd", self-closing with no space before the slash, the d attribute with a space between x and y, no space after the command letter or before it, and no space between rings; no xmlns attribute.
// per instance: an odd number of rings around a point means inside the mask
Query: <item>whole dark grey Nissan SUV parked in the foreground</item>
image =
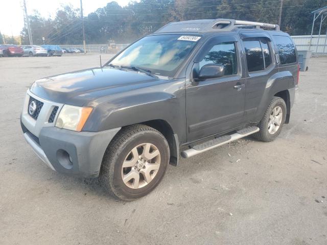
<svg viewBox="0 0 327 245"><path fill-rule="evenodd" d="M294 42L276 24L172 22L100 68L35 81L21 127L52 169L99 176L115 197L135 200L179 156L248 135L273 141L290 120L298 78Z"/></svg>

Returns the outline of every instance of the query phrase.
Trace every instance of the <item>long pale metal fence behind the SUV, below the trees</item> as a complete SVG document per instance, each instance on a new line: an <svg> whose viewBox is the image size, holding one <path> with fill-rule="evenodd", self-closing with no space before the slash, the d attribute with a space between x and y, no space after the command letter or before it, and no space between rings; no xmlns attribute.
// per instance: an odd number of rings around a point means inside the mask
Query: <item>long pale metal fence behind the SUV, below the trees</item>
<svg viewBox="0 0 327 245"><path fill-rule="evenodd" d="M318 43L318 35L313 35L310 45L310 35L306 36L292 36L296 48L299 51L310 50L314 55L327 55L327 35L320 35ZM129 44L116 44L117 49L112 50L112 53L120 51ZM63 48L83 48L83 45L60 45ZM86 51L88 53L100 53L101 48L107 48L107 44L87 44Z"/></svg>

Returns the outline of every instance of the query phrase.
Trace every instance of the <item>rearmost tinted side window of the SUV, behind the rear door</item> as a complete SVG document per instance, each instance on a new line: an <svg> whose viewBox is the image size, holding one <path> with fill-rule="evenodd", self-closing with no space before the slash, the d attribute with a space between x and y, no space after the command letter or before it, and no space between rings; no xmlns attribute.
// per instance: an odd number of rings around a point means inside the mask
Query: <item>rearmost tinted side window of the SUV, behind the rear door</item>
<svg viewBox="0 0 327 245"><path fill-rule="evenodd" d="M273 36L278 48L281 64L291 64L296 62L295 47L292 40L287 36Z"/></svg>

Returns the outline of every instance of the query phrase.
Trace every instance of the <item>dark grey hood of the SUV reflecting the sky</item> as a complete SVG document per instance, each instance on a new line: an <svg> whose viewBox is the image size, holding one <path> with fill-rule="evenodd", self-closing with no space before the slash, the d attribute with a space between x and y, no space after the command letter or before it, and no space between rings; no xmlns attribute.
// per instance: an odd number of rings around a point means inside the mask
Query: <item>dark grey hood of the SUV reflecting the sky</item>
<svg viewBox="0 0 327 245"><path fill-rule="evenodd" d="M83 106L102 96L143 88L163 81L165 80L134 71L110 67L91 68L39 79L30 90L45 100Z"/></svg>

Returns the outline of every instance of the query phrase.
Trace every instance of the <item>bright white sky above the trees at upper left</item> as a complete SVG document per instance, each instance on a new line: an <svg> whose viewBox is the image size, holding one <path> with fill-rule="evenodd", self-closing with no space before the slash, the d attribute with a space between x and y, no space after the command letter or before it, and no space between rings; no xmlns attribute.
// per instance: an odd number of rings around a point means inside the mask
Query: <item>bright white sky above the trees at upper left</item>
<svg viewBox="0 0 327 245"><path fill-rule="evenodd" d="M2 0L1 0L2 1ZM83 0L83 15L94 12L102 8L113 0ZM0 8L0 32L2 34L14 36L20 34L24 27L24 16L22 10L22 0L6 1ZM119 5L126 6L130 0L115 0ZM32 14L36 9L43 17L54 17L61 5L71 4L74 8L80 8L80 0L26 0L28 14Z"/></svg>

